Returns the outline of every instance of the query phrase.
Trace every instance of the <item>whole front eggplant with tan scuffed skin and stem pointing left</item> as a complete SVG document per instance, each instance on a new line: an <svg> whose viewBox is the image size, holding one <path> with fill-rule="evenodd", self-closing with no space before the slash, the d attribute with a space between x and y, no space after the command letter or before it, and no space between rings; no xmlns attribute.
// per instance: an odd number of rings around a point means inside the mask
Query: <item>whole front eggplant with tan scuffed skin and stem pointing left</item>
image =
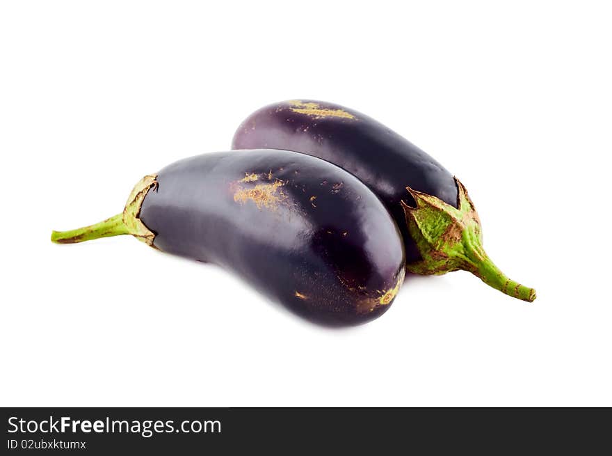
<svg viewBox="0 0 612 456"><path fill-rule="evenodd" d="M287 150L175 162L140 180L121 214L51 240L125 234L230 269L331 326L382 315L405 274L401 235L376 195L338 166Z"/></svg>

